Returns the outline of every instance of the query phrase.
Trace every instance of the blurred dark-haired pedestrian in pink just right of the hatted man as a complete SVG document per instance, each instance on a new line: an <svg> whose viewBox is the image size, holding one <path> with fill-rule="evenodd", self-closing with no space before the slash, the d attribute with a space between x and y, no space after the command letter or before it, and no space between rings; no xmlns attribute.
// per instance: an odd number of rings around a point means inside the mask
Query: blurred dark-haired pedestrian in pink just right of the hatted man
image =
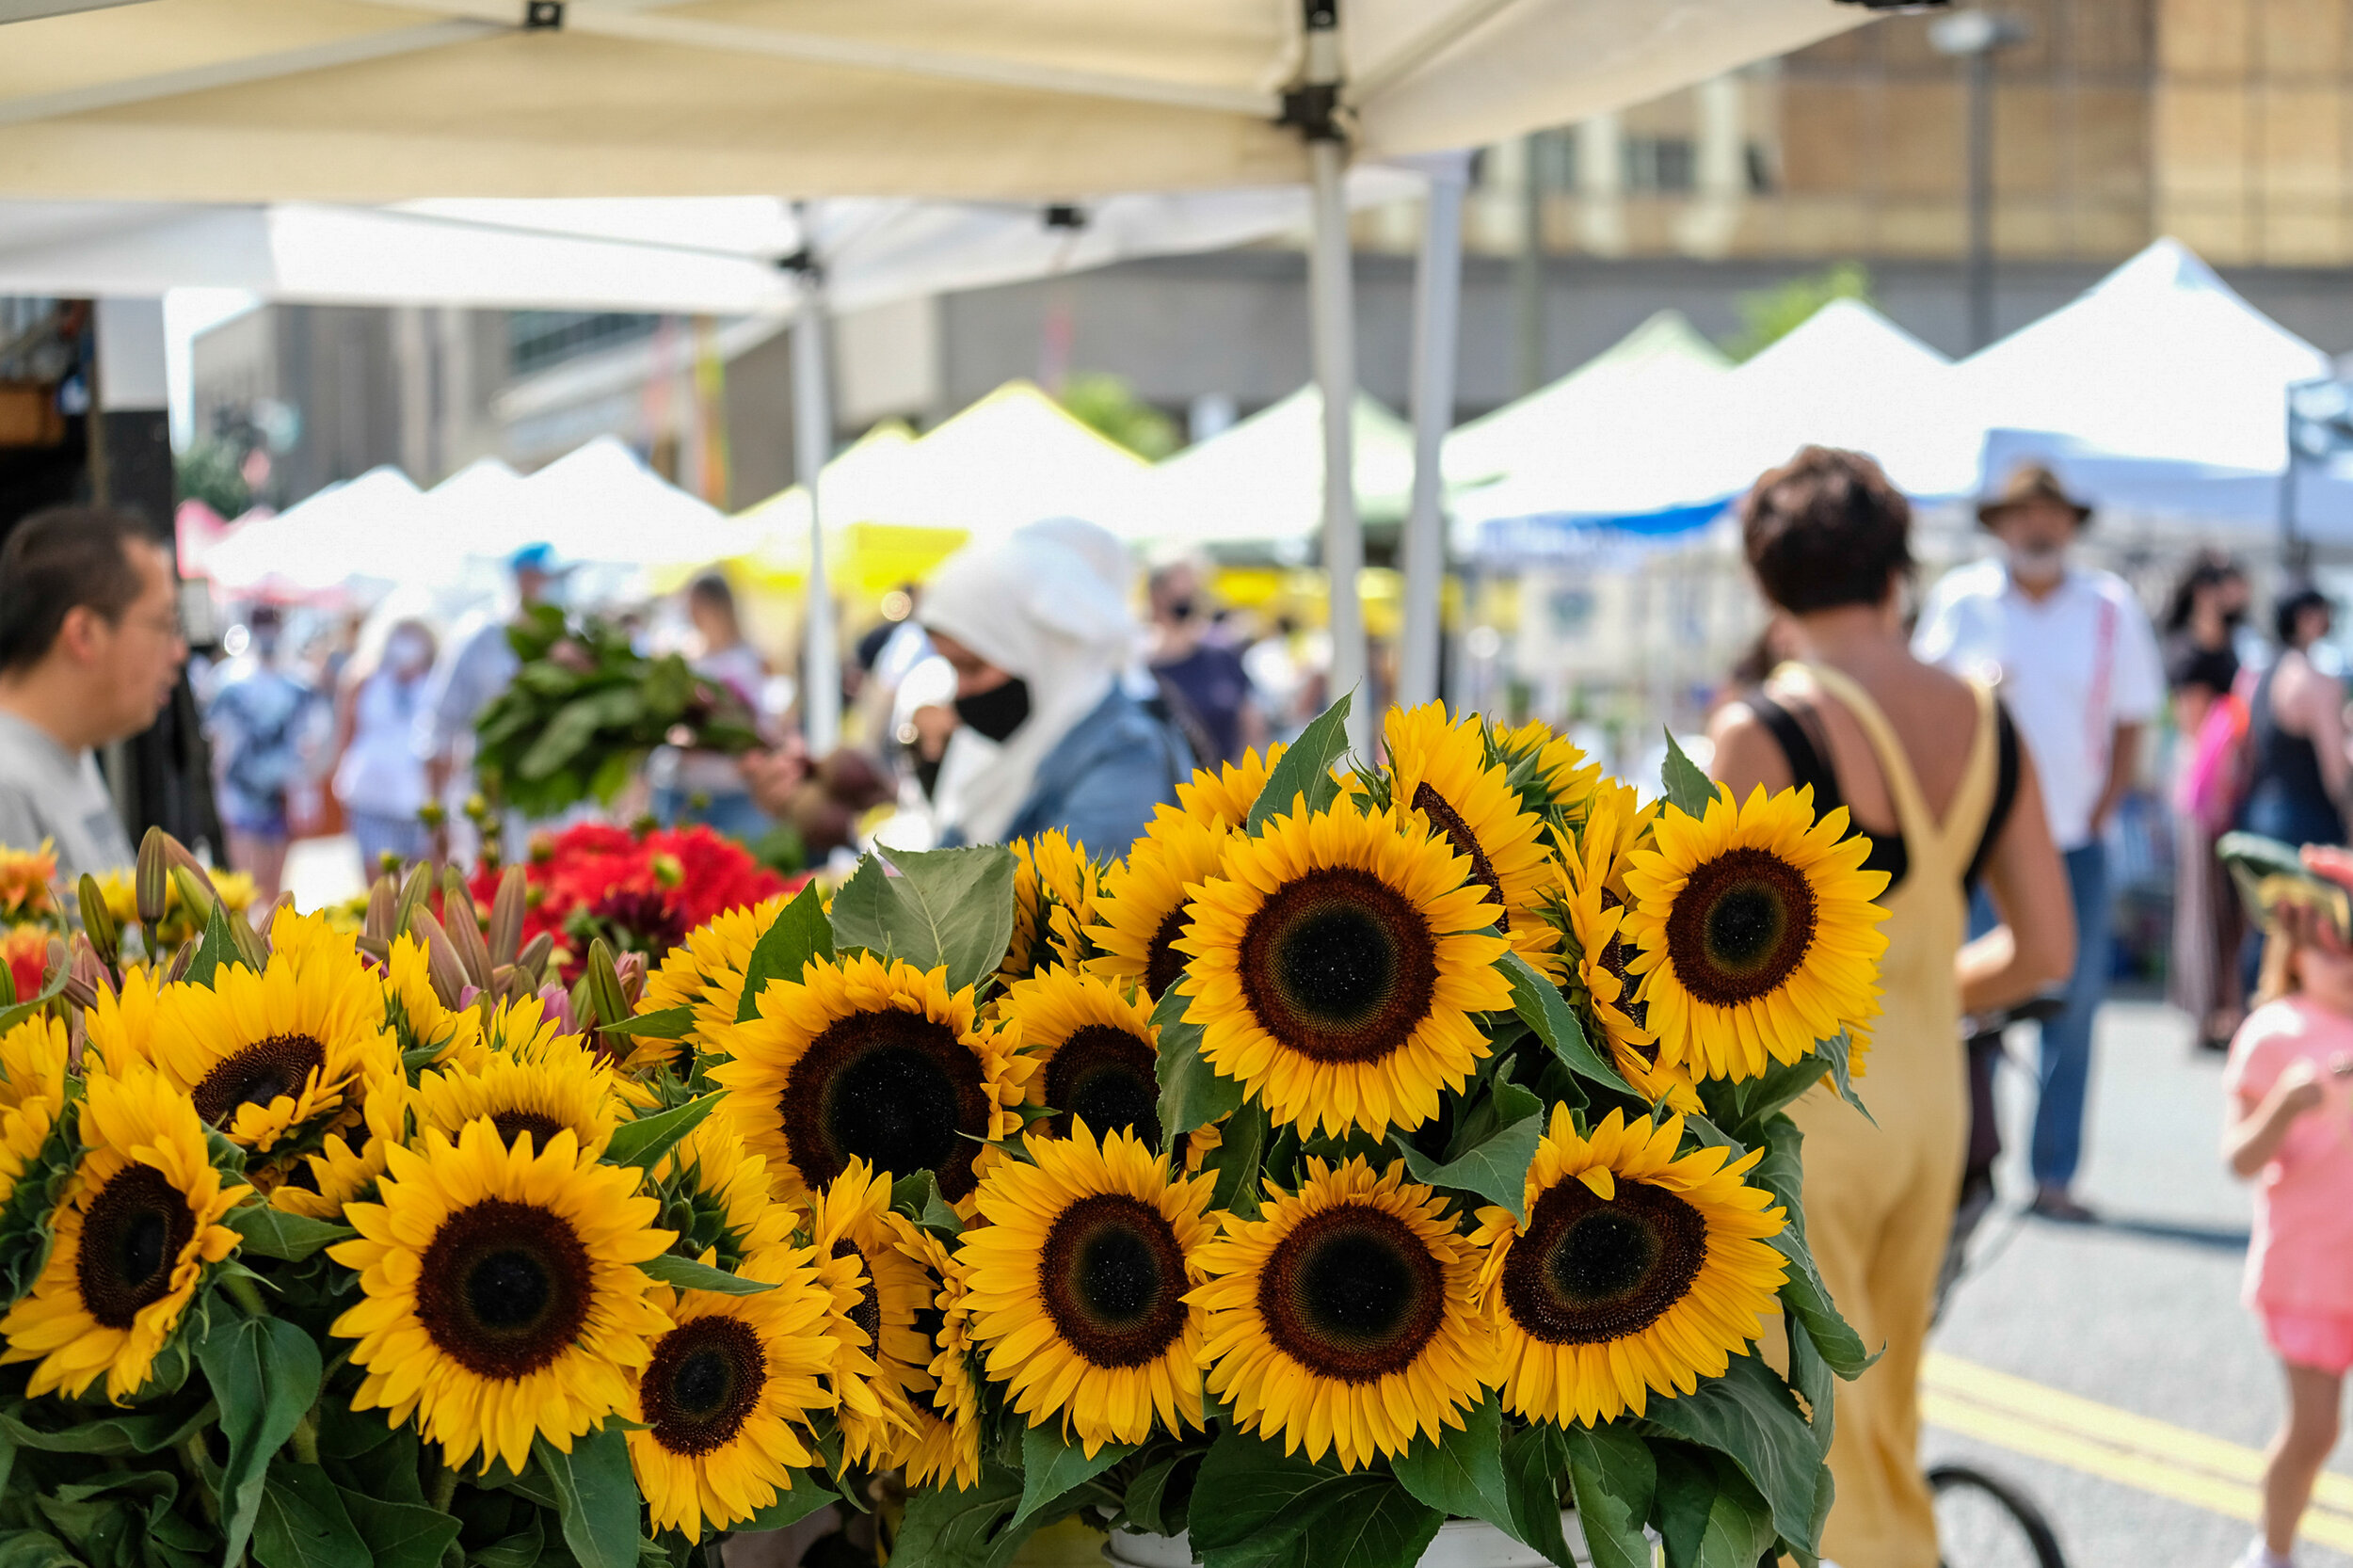
<svg viewBox="0 0 2353 1568"><path fill-rule="evenodd" d="M2174 942L2167 1001L2198 1024L2198 1043L2224 1050L2245 1017L2238 890L2214 859L2245 796L2247 699L2238 692L2238 624L2247 577L2219 551L2200 551L2165 610L2165 685L2174 704Z"/></svg>

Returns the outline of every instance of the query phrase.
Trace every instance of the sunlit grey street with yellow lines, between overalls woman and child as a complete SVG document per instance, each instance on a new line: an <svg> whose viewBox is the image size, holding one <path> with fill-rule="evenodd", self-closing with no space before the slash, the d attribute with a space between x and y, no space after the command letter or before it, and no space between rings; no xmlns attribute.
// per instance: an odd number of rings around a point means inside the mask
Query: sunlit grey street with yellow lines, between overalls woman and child
<svg viewBox="0 0 2353 1568"><path fill-rule="evenodd" d="M2031 1059L2033 1031L2014 1031L2012 1050ZM2024 1151L2031 1092L2021 1074L2005 1078L2005 1142ZM2214 1154L2219 1078L2217 1057L2191 1059L2177 1012L2111 1003L2080 1189L2104 1222L2021 1217L2028 1177L2014 1161L2007 1208L1979 1231L1934 1342L1925 1457L2024 1483L2078 1566L2224 1568L2252 1528L2257 1450L2280 1396L2238 1304L2249 1198ZM2304 1568L2353 1568L2353 1443L2332 1469L2332 1511L2308 1521Z"/></svg>

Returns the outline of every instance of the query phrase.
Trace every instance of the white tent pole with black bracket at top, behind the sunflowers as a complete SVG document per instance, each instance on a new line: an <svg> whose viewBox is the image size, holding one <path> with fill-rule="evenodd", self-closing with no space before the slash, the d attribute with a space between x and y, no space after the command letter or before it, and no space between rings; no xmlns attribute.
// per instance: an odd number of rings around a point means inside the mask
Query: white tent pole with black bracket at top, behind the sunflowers
<svg viewBox="0 0 2353 1568"><path fill-rule="evenodd" d="M1348 704L1348 744L1372 758L1374 695L1365 680L1365 525L1355 516L1355 287L1348 252L1348 141L1339 106L1339 0L1301 0L1306 14L1304 87L1292 118L1308 144L1313 242L1308 245L1308 320L1315 388L1325 405L1325 574L1332 584L1332 697Z"/></svg>

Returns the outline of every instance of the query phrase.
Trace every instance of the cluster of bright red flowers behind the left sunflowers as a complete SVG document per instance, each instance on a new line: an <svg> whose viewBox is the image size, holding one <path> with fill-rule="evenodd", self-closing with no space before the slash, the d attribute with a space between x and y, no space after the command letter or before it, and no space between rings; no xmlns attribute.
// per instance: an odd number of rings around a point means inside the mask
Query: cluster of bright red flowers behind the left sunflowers
<svg viewBox="0 0 2353 1568"><path fill-rule="evenodd" d="M645 954L647 963L661 963L704 921L786 890L784 878L744 845L706 826L638 833L581 822L553 838L534 838L522 876L529 888L522 939L551 932L565 979L579 977L579 961L595 937L605 937L616 954ZM475 902L489 909L496 892L499 878L478 869Z"/></svg>

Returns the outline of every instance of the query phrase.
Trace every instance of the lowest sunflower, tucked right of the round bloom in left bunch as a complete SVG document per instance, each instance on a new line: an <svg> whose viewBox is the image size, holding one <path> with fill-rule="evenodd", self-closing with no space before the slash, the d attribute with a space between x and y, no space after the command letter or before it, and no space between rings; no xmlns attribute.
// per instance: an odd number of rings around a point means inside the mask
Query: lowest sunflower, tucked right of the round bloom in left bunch
<svg viewBox="0 0 2353 1568"><path fill-rule="evenodd" d="M704 1262L715 1255L706 1253ZM624 1415L628 1462L656 1530L701 1540L753 1519L793 1488L793 1467L816 1457L805 1427L833 1408L824 1375L833 1342L821 1333L831 1295L809 1253L781 1248L744 1278L758 1295L656 1290L671 1318L654 1337Z"/></svg>

